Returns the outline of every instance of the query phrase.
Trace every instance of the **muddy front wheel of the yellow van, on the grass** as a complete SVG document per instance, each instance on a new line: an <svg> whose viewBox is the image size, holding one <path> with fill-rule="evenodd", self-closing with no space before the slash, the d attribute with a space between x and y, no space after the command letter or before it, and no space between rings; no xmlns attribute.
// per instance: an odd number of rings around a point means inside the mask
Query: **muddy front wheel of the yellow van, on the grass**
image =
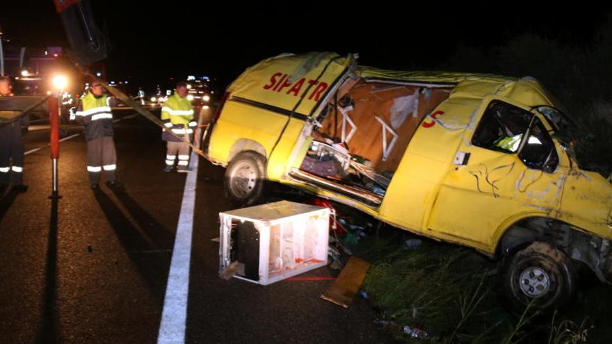
<svg viewBox="0 0 612 344"><path fill-rule="evenodd" d="M551 313L570 305L576 295L577 274L560 249L536 241L504 259L501 281L502 297L517 315L531 302L540 313Z"/></svg>

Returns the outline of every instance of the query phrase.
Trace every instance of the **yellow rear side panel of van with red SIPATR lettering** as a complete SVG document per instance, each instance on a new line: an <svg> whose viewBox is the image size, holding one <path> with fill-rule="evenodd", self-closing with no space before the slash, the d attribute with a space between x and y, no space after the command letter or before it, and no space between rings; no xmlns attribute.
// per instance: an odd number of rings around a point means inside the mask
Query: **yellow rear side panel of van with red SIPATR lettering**
<svg viewBox="0 0 612 344"><path fill-rule="evenodd" d="M208 130L209 156L226 165L240 151L255 150L266 158L268 179L280 179L305 121L354 62L333 53L286 54L250 67L227 88Z"/></svg>

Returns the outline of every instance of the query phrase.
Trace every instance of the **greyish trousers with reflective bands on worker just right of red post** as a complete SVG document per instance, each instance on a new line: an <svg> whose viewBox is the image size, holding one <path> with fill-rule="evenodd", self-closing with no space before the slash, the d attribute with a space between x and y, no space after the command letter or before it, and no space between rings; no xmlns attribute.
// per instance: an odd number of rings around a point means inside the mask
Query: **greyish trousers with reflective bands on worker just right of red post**
<svg viewBox="0 0 612 344"><path fill-rule="evenodd" d="M115 154L115 141L112 136L102 136L87 141L87 171L89 182L97 184L100 174L104 171L107 181L115 180L117 170L117 154Z"/></svg>

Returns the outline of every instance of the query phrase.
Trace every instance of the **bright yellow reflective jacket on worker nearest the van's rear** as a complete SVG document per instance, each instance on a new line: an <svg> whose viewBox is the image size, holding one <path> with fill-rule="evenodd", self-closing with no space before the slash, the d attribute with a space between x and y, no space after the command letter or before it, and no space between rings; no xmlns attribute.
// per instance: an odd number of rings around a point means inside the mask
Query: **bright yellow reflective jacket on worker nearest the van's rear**
<svg viewBox="0 0 612 344"><path fill-rule="evenodd" d="M172 130L172 133L179 136L193 134L193 128L198 125L198 123L193 120L193 106L191 105L191 101L188 101L187 97L179 97L176 92L168 97L168 100L163 104L161 108L161 120L166 128ZM166 131L163 131L162 138L166 141L179 141L179 139Z"/></svg>

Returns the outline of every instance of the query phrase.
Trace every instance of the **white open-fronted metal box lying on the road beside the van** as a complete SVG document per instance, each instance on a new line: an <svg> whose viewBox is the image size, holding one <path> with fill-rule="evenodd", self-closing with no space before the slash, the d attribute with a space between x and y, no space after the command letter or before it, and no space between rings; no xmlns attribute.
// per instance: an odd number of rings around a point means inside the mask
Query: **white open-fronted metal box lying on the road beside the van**
<svg viewBox="0 0 612 344"><path fill-rule="evenodd" d="M288 201L219 213L219 272L267 285L328 263L330 210Z"/></svg>

